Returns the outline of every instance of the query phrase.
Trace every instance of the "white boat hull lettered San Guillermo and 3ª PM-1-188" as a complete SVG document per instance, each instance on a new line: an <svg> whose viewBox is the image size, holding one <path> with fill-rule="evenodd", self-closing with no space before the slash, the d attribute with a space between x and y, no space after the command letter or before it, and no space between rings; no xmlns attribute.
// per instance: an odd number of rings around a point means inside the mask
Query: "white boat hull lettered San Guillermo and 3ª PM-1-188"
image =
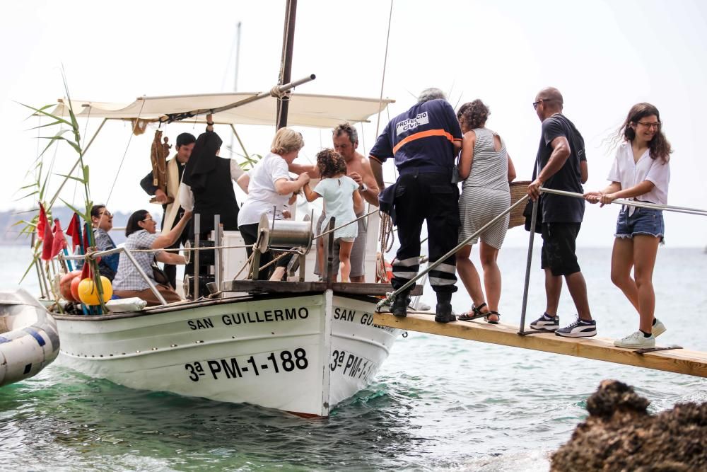
<svg viewBox="0 0 707 472"><path fill-rule="evenodd" d="M375 299L263 294L57 316L63 364L116 384L327 416L365 388L400 330Z"/></svg>

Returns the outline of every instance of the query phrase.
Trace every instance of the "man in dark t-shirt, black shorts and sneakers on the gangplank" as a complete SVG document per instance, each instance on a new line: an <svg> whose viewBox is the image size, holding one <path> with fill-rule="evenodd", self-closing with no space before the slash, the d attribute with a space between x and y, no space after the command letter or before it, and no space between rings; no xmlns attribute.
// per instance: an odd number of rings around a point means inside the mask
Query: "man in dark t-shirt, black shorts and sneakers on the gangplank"
<svg viewBox="0 0 707 472"><path fill-rule="evenodd" d="M597 334L587 299L587 284L577 263L575 242L584 217L584 200L544 192L539 188L583 193L586 180L584 139L573 123L562 115L562 95L556 88L544 88L532 104L542 122L542 135L535 161L537 174L528 195L540 198L542 207L541 267L545 271L547 306L543 316L530 323L533 329L554 330L556 335L585 338ZM538 215L540 217L541 215ZM574 323L560 328L557 307L562 277L578 312Z"/></svg>

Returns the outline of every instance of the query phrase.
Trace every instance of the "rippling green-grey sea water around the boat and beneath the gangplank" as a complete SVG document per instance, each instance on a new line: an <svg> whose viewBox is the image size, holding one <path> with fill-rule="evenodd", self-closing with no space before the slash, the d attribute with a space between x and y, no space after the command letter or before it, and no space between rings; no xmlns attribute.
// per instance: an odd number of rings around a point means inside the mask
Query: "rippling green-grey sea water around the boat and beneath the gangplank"
<svg viewBox="0 0 707 472"><path fill-rule="evenodd" d="M16 286L27 251L0 248L2 286ZM544 309L537 253L527 322ZM609 280L610 255L578 251L599 335L617 338L636 330L638 315ZM520 321L526 256L523 248L500 254L504 323ZM660 248L660 345L707 350L705 280L701 248ZM36 292L33 273L23 287ZM429 287L423 301L434 306ZM471 307L463 288L452 303L457 312ZM574 313L565 287L561 323ZM694 376L420 333L399 338L373 384L325 419L134 390L54 362L0 388L0 469L547 471L602 379L634 386L651 413L707 401L707 381Z"/></svg>

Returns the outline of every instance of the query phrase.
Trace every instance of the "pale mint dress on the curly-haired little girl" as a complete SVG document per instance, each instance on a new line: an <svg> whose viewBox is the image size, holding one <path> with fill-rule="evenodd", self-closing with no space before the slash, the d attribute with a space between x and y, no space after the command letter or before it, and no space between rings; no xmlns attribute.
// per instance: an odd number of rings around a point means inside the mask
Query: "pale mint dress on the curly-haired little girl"
<svg viewBox="0 0 707 472"><path fill-rule="evenodd" d="M327 228L329 220L334 217L334 225L338 228L342 224L349 223L356 219L354 213L354 197L351 196L358 190L356 180L347 175L339 178L322 178L314 191L324 198L325 212L327 218L322 223L322 231ZM356 238L358 236L358 224L349 224L334 231L334 238Z"/></svg>

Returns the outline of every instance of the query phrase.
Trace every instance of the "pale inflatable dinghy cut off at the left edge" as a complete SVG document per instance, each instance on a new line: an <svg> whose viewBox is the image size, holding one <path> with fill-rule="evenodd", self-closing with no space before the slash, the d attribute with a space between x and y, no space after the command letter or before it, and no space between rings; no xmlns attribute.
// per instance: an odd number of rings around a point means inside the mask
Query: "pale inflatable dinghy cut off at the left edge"
<svg viewBox="0 0 707 472"><path fill-rule="evenodd" d="M57 323L23 289L0 292L0 386L29 379L59 354Z"/></svg>

